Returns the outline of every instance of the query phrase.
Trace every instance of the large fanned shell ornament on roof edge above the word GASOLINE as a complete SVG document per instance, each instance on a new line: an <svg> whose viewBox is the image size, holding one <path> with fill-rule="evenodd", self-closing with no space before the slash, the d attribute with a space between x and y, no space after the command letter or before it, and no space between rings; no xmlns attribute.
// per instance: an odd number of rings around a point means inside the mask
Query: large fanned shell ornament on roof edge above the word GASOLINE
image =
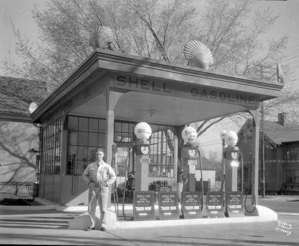
<svg viewBox="0 0 299 246"><path fill-rule="evenodd" d="M190 40L184 46L185 58L194 66L209 69L213 64L210 49L198 40Z"/></svg>

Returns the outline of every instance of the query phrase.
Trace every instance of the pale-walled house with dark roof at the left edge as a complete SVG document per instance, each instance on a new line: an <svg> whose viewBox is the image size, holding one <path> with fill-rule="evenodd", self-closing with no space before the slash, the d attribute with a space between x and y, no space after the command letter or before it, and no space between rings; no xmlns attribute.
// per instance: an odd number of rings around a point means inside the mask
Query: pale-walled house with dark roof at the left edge
<svg viewBox="0 0 299 246"><path fill-rule="evenodd" d="M24 195L38 182L38 126L31 123L29 101L5 87L5 83L22 82L0 76L0 194ZM16 185L29 190L16 189Z"/></svg>

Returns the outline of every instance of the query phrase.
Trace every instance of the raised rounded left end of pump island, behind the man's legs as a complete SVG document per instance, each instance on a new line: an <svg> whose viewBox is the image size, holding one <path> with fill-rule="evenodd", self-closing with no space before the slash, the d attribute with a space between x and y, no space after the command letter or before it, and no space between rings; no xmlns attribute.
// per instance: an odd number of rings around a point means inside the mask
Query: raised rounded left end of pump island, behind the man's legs
<svg viewBox="0 0 299 246"><path fill-rule="evenodd" d="M89 226L89 215L88 213L84 213L74 219L72 219L68 223L68 228L72 230L85 230ZM100 230L100 210L96 210L96 225L95 230ZM114 211L108 209L107 210L107 229L115 229L119 227L118 222L116 220L116 214Z"/></svg>

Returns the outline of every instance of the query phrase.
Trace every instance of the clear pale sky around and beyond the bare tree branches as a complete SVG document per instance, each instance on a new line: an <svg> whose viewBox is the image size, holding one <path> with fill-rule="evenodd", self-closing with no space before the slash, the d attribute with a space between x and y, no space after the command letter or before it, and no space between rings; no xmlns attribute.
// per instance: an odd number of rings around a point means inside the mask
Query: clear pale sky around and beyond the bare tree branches
<svg viewBox="0 0 299 246"><path fill-rule="evenodd" d="M21 64L21 60L14 53L14 37L12 35L13 22L16 29L21 35L29 38L31 42L37 37L37 25L32 19L33 4L36 4L38 10L46 8L48 0L0 0L0 61L8 56L10 51L11 58L17 63ZM206 0L196 0L199 11L204 8ZM288 50L286 54L288 57L281 62L282 67L284 64L290 64L291 70L294 75L290 78L290 82L294 87L299 89L299 0L254 0L253 8L259 10L267 9L268 7L275 14L279 14L275 25L271 31L265 35L265 42L268 39L282 37L283 35L289 36ZM3 70L0 68L0 76L3 76ZM225 129L235 130L230 128ZM208 140L202 141L204 151L216 150L222 151L220 132L222 129L213 129L213 137Z"/></svg>

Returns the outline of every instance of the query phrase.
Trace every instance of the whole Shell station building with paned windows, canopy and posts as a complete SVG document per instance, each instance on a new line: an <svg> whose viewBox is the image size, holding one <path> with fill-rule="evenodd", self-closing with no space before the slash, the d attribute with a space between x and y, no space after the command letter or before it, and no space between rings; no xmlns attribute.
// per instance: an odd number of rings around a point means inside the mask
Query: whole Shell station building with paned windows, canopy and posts
<svg viewBox="0 0 299 246"><path fill-rule="evenodd" d="M88 186L81 174L96 147L118 163L136 141L134 128L146 122L149 163L142 190L156 180L176 190L178 135L182 125L237 112L253 116L252 152L259 152L260 102L279 96L284 84L96 48L30 115L41 125L39 197L60 205L83 205ZM254 177L258 182L258 160ZM121 164L116 170L122 176ZM258 194L258 185L255 185Z"/></svg>

